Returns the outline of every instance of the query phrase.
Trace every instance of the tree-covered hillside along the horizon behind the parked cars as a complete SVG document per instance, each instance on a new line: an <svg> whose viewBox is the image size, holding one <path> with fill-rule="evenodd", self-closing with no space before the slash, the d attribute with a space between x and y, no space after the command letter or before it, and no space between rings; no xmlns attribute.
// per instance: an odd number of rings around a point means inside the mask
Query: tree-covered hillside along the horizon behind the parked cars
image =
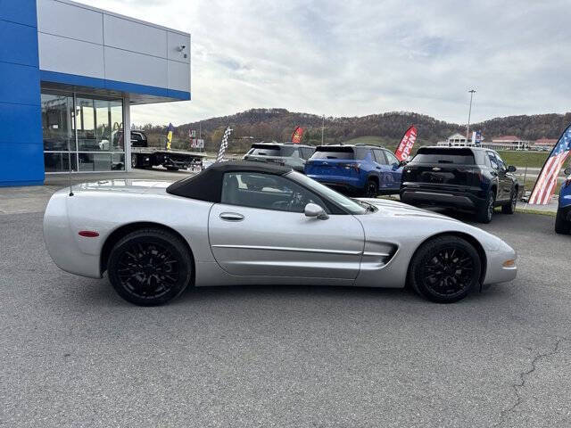
<svg viewBox="0 0 571 428"><path fill-rule="evenodd" d="M471 125L479 129L487 139L492 136L515 135L534 140L542 136L558 138L571 122L571 112L566 114L538 114L531 116L509 116L485 120ZM364 136L377 136L383 144L397 144L404 131L414 124L418 128L418 144L434 144L454 132L466 132L465 125L448 123L424 114L390 111L362 117L326 117L325 142L339 143ZM316 114L287 111L285 109L252 109L231 116L204 119L187 123L175 130L173 146L187 148L188 131L202 128L207 151L216 151L227 126L234 128L231 151L244 151L252 141L289 141L294 128L305 128L303 143L321 143L322 117ZM138 127L149 136L150 142L161 144L166 135L166 126L145 125Z"/></svg>

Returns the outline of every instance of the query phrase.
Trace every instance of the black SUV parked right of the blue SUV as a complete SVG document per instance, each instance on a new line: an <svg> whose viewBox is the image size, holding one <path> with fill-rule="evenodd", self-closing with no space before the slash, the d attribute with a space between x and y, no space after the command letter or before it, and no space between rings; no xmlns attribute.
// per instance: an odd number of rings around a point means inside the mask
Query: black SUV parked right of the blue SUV
<svg viewBox="0 0 571 428"><path fill-rule="evenodd" d="M495 207L513 214L519 184L516 167L478 147L421 147L402 173L401 202L472 210L489 223Z"/></svg>

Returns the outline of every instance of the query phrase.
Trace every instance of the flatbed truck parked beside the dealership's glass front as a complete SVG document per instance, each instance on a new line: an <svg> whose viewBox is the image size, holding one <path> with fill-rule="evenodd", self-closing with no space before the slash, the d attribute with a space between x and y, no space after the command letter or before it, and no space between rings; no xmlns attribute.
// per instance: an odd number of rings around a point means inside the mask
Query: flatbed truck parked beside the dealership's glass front
<svg viewBox="0 0 571 428"><path fill-rule="evenodd" d="M177 169L203 169L206 153L184 150L161 150L153 147L131 147L131 167L153 168L162 166L170 171Z"/></svg>

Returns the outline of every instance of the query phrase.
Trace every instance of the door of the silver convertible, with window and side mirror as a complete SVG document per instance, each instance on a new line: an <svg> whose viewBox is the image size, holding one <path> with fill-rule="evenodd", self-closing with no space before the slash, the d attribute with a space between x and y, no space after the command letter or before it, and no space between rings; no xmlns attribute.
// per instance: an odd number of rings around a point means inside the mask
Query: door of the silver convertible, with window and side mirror
<svg viewBox="0 0 571 428"><path fill-rule="evenodd" d="M352 215L304 215L307 203L327 204L292 180L252 172L228 172L221 202L209 216L211 251L236 276L354 279L364 245Z"/></svg>

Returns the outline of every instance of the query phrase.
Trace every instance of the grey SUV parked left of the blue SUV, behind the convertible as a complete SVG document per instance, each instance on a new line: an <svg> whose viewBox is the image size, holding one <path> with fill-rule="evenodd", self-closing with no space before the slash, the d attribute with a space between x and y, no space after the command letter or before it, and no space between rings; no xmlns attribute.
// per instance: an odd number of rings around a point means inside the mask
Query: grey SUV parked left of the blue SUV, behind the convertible
<svg viewBox="0 0 571 428"><path fill-rule="evenodd" d="M255 143L244 155L244 161L262 161L284 165L303 172L305 162L310 159L315 147L292 143Z"/></svg>

